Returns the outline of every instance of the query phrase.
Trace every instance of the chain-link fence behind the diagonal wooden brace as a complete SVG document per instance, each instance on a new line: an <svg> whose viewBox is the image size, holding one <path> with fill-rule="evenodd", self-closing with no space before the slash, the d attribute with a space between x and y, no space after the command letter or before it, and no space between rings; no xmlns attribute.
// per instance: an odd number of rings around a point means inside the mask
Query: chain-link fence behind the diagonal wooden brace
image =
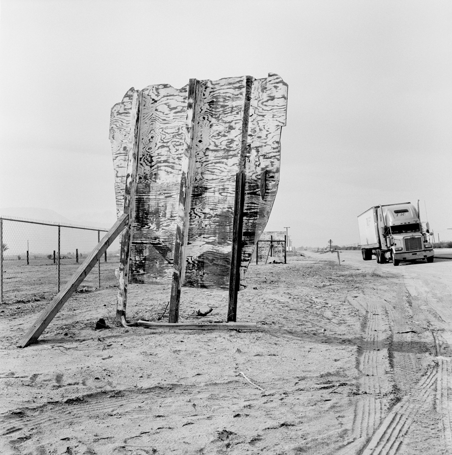
<svg viewBox="0 0 452 455"><path fill-rule="evenodd" d="M94 227L0 217L0 302L51 298L107 231ZM116 285L119 239L110 245L79 292Z"/></svg>

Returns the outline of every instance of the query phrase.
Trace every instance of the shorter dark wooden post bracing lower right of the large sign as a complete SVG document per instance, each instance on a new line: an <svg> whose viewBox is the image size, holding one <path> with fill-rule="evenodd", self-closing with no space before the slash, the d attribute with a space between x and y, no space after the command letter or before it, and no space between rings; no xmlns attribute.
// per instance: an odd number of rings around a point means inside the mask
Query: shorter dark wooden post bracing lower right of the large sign
<svg viewBox="0 0 452 455"><path fill-rule="evenodd" d="M240 288L240 262L242 256L243 207L245 202L245 173L236 176L236 198L234 201L233 250L231 257L231 277L229 281L228 322L237 319L237 294Z"/></svg>

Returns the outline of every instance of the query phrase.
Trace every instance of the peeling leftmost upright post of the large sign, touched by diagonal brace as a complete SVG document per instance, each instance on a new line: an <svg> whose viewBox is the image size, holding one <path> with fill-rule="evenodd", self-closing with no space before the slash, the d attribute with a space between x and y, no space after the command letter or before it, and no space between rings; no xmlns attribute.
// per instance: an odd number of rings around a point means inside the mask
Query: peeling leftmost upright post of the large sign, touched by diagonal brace
<svg viewBox="0 0 452 455"><path fill-rule="evenodd" d="M116 317L119 321L126 317L127 285L129 283L130 247L132 244L132 226L135 211L135 187L138 172L138 152L140 138L140 108L143 92L134 92L131 109L131 122L129 134L129 156L127 160L126 188L124 195L124 214L128 216L127 225L123 231L121 241L120 276L118 285L118 301Z"/></svg>

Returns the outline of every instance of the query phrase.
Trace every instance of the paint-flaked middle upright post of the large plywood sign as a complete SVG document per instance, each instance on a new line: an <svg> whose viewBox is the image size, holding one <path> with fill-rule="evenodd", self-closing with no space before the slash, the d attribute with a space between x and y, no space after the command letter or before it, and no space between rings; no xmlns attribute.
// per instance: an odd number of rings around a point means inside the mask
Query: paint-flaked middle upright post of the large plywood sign
<svg viewBox="0 0 452 455"><path fill-rule="evenodd" d="M171 297L168 322L176 323L179 320L180 290L185 273L185 244L187 241L191 176L194 166L194 131L196 116L196 99L198 96L199 81L190 79L188 83L187 117L185 121L184 155L182 157L182 174L180 179L179 211L177 215L176 243L174 246L174 269L171 283Z"/></svg>

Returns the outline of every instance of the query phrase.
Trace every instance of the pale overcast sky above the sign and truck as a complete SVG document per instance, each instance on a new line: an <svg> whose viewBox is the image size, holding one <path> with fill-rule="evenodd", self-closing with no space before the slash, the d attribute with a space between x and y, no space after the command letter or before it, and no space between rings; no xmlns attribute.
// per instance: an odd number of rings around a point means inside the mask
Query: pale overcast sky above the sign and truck
<svg viewBox="0 0 452 455"><path fill-rule="evenodd" d="M289 85L267 230L359 242L420 199L452 240L452 2L2 0L0 207L115 222L110 108L131 87L278 73Z"/></svg>

